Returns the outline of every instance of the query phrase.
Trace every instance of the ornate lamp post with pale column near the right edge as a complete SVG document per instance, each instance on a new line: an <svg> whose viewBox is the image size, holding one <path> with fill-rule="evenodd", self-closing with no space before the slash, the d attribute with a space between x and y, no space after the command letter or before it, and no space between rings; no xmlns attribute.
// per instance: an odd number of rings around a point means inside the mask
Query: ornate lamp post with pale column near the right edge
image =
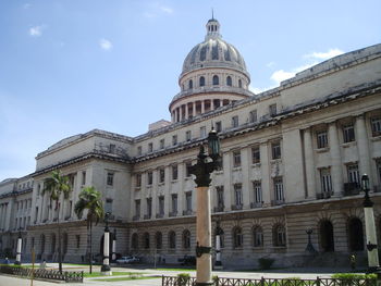
<svg viewBox="0 0 381 286"><path fill-rule="evenodd" d="M364 174L361 177L361 188L365 191L364 213L365 213L365 232L367 236L368 250L368 272L380 272L379 253L377 247L376 224L373 214L373 202L369 197L369 177Z"/></svg>

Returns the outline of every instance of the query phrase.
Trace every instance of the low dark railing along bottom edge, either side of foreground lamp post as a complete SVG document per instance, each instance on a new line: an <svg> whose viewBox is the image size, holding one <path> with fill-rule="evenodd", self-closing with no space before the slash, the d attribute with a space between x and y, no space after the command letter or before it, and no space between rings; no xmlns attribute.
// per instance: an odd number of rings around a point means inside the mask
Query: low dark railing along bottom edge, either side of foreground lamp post
<svg viewBox="0 0 381 286"><path fill-rule="evenodd" d="M162 276L162 286L194 286L195 277ZM377 286L376 278L223 278L214 277L214 286Z"/></svg>

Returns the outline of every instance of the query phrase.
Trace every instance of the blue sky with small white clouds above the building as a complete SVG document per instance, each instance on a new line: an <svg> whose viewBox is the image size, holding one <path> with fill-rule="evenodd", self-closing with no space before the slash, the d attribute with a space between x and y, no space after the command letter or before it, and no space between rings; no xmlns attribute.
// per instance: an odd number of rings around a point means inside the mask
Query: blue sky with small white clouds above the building
<svg viewBox="0 0 381 286"><path fill-rule="evenodd" d="M127 136L170 120L183 60L211 17L258 92L381 42L381 1L0 1L0 181L93 128Z"/></svg>

